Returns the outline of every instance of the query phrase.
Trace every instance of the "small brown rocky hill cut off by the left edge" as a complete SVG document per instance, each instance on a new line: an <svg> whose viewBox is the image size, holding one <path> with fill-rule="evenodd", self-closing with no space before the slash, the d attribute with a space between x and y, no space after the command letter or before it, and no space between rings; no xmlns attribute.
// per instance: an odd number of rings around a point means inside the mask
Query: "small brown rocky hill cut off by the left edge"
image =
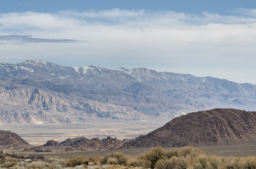
<svg viewBox="0 0 256 169"><path fill-rule="evenodd" d="M16 133L0 130L0 147L15 148L24 145L28 145L28 143Z"/></svg>

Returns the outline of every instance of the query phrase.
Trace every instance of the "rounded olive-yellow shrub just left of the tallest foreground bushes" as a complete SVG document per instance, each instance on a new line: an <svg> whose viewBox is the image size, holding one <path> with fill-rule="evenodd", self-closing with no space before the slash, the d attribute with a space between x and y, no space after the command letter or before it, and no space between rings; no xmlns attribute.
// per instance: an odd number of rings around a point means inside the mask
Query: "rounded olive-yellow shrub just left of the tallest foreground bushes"
<svg viewBox="0 0 256 169"><path fill-rule="evenodd" d="M104 156L104 158L102 159L102 164L109 164L109 159L111 159L112 162L115 162L115 160L117 159L115 164L118 165L125 165L127 162L127 158L125 157L125 155L122 152L115 152L113 154L107 154L106 156Z"/></svg>

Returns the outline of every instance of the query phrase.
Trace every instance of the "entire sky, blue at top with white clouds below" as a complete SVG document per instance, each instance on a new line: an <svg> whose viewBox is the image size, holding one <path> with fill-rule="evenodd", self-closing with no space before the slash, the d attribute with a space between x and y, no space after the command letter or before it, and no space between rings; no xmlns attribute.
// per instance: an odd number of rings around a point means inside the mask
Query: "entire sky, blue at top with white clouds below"
<svg viewBox="0 0 256 169"><path fill-rule="evenodd" d="M256 1L1 0L0 62L145 67L256 84Z"/></svg>

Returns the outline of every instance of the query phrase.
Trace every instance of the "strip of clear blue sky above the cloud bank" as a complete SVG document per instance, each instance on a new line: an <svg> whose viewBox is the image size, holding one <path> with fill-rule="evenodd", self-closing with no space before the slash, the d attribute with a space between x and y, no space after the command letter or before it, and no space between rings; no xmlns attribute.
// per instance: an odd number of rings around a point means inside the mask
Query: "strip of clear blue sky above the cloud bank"
<svg viewBox="0 0 256 169"><path fill-rule="evenodd" d="M235 8L255 8L253 0L1 0L0 11L22 12L56 12L60 10L160 10L200 14L204 11L211 13L232 13Z"/></svg>

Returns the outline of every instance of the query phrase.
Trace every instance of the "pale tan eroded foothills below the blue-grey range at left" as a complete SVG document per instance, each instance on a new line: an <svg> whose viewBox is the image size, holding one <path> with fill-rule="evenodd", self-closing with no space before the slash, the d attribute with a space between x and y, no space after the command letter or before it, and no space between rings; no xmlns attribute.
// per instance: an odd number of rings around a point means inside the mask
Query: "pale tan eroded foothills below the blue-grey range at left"
<svg viewBox="0 0 256 169"><path fill-rule="evenodd" d="M0 123L77 123L88 119L145 119L129 107L101 104L99 101L69 100L34 87L8 90L0 87Z"/></svg>

